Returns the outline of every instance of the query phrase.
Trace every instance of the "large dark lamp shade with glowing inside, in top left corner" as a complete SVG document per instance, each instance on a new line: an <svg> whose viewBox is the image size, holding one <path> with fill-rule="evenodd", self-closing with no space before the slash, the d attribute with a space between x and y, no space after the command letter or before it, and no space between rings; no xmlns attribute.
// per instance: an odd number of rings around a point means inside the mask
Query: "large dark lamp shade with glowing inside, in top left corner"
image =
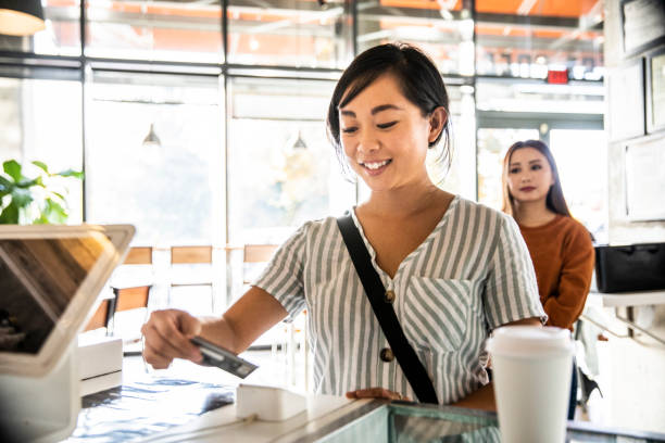
<svg viewBox="0 0 665 443"><path fill-rule="evenodd" d="M0 0L0 34L21 37L43 29L40 0Z"/></svg>

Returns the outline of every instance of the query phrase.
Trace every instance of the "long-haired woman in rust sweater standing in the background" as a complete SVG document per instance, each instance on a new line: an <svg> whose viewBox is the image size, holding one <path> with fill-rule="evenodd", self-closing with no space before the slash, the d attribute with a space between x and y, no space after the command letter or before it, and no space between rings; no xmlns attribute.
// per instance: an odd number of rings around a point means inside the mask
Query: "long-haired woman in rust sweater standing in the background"
<svg viewBox="0 0 665 443"><path fill-rule="evenodd" d="M593 271L591 235L570 216L556 163L545 143L514 143L503 160L503 211L529 249L548 325L573 330L585 307ZM576 371L568 418L575 414Z"/></svg>

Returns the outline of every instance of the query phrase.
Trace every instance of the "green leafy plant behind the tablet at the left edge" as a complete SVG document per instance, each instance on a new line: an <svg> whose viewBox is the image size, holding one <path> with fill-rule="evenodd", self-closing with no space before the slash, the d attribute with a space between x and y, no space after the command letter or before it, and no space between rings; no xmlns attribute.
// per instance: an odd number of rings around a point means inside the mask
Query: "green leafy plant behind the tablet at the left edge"
<svg viewBox="0 0 665 443"><path fill-rule="evenodd" d="M66 188L63 180L83 179L83 173L66 169L50 173L42 162L37 166L36 176L26 177L23 166L15 160L2 164L0 173L0 224L43 225L63 224L70 216Z"/></svg>

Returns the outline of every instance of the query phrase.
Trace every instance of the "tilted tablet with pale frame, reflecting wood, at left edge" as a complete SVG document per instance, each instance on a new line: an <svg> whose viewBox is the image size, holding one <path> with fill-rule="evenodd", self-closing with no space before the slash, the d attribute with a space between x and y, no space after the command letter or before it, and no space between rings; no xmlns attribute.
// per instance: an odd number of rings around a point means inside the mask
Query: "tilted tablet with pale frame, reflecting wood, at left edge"
<svg viewBox="0 0 665 443"><path fill-rule="evenodd" d="M127 225L0 226L0 374L52 369L133 236Z"/></svg>

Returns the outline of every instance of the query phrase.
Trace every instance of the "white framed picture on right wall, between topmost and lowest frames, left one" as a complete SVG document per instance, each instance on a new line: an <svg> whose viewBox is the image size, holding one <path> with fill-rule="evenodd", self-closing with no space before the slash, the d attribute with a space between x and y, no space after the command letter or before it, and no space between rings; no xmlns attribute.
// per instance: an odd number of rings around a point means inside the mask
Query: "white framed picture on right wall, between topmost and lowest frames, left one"
<svg viewBox="0 0 665 443"><path fill-rule="evenodd" d="M610 140L644 135L644 59L610 69Z"/></svg>

